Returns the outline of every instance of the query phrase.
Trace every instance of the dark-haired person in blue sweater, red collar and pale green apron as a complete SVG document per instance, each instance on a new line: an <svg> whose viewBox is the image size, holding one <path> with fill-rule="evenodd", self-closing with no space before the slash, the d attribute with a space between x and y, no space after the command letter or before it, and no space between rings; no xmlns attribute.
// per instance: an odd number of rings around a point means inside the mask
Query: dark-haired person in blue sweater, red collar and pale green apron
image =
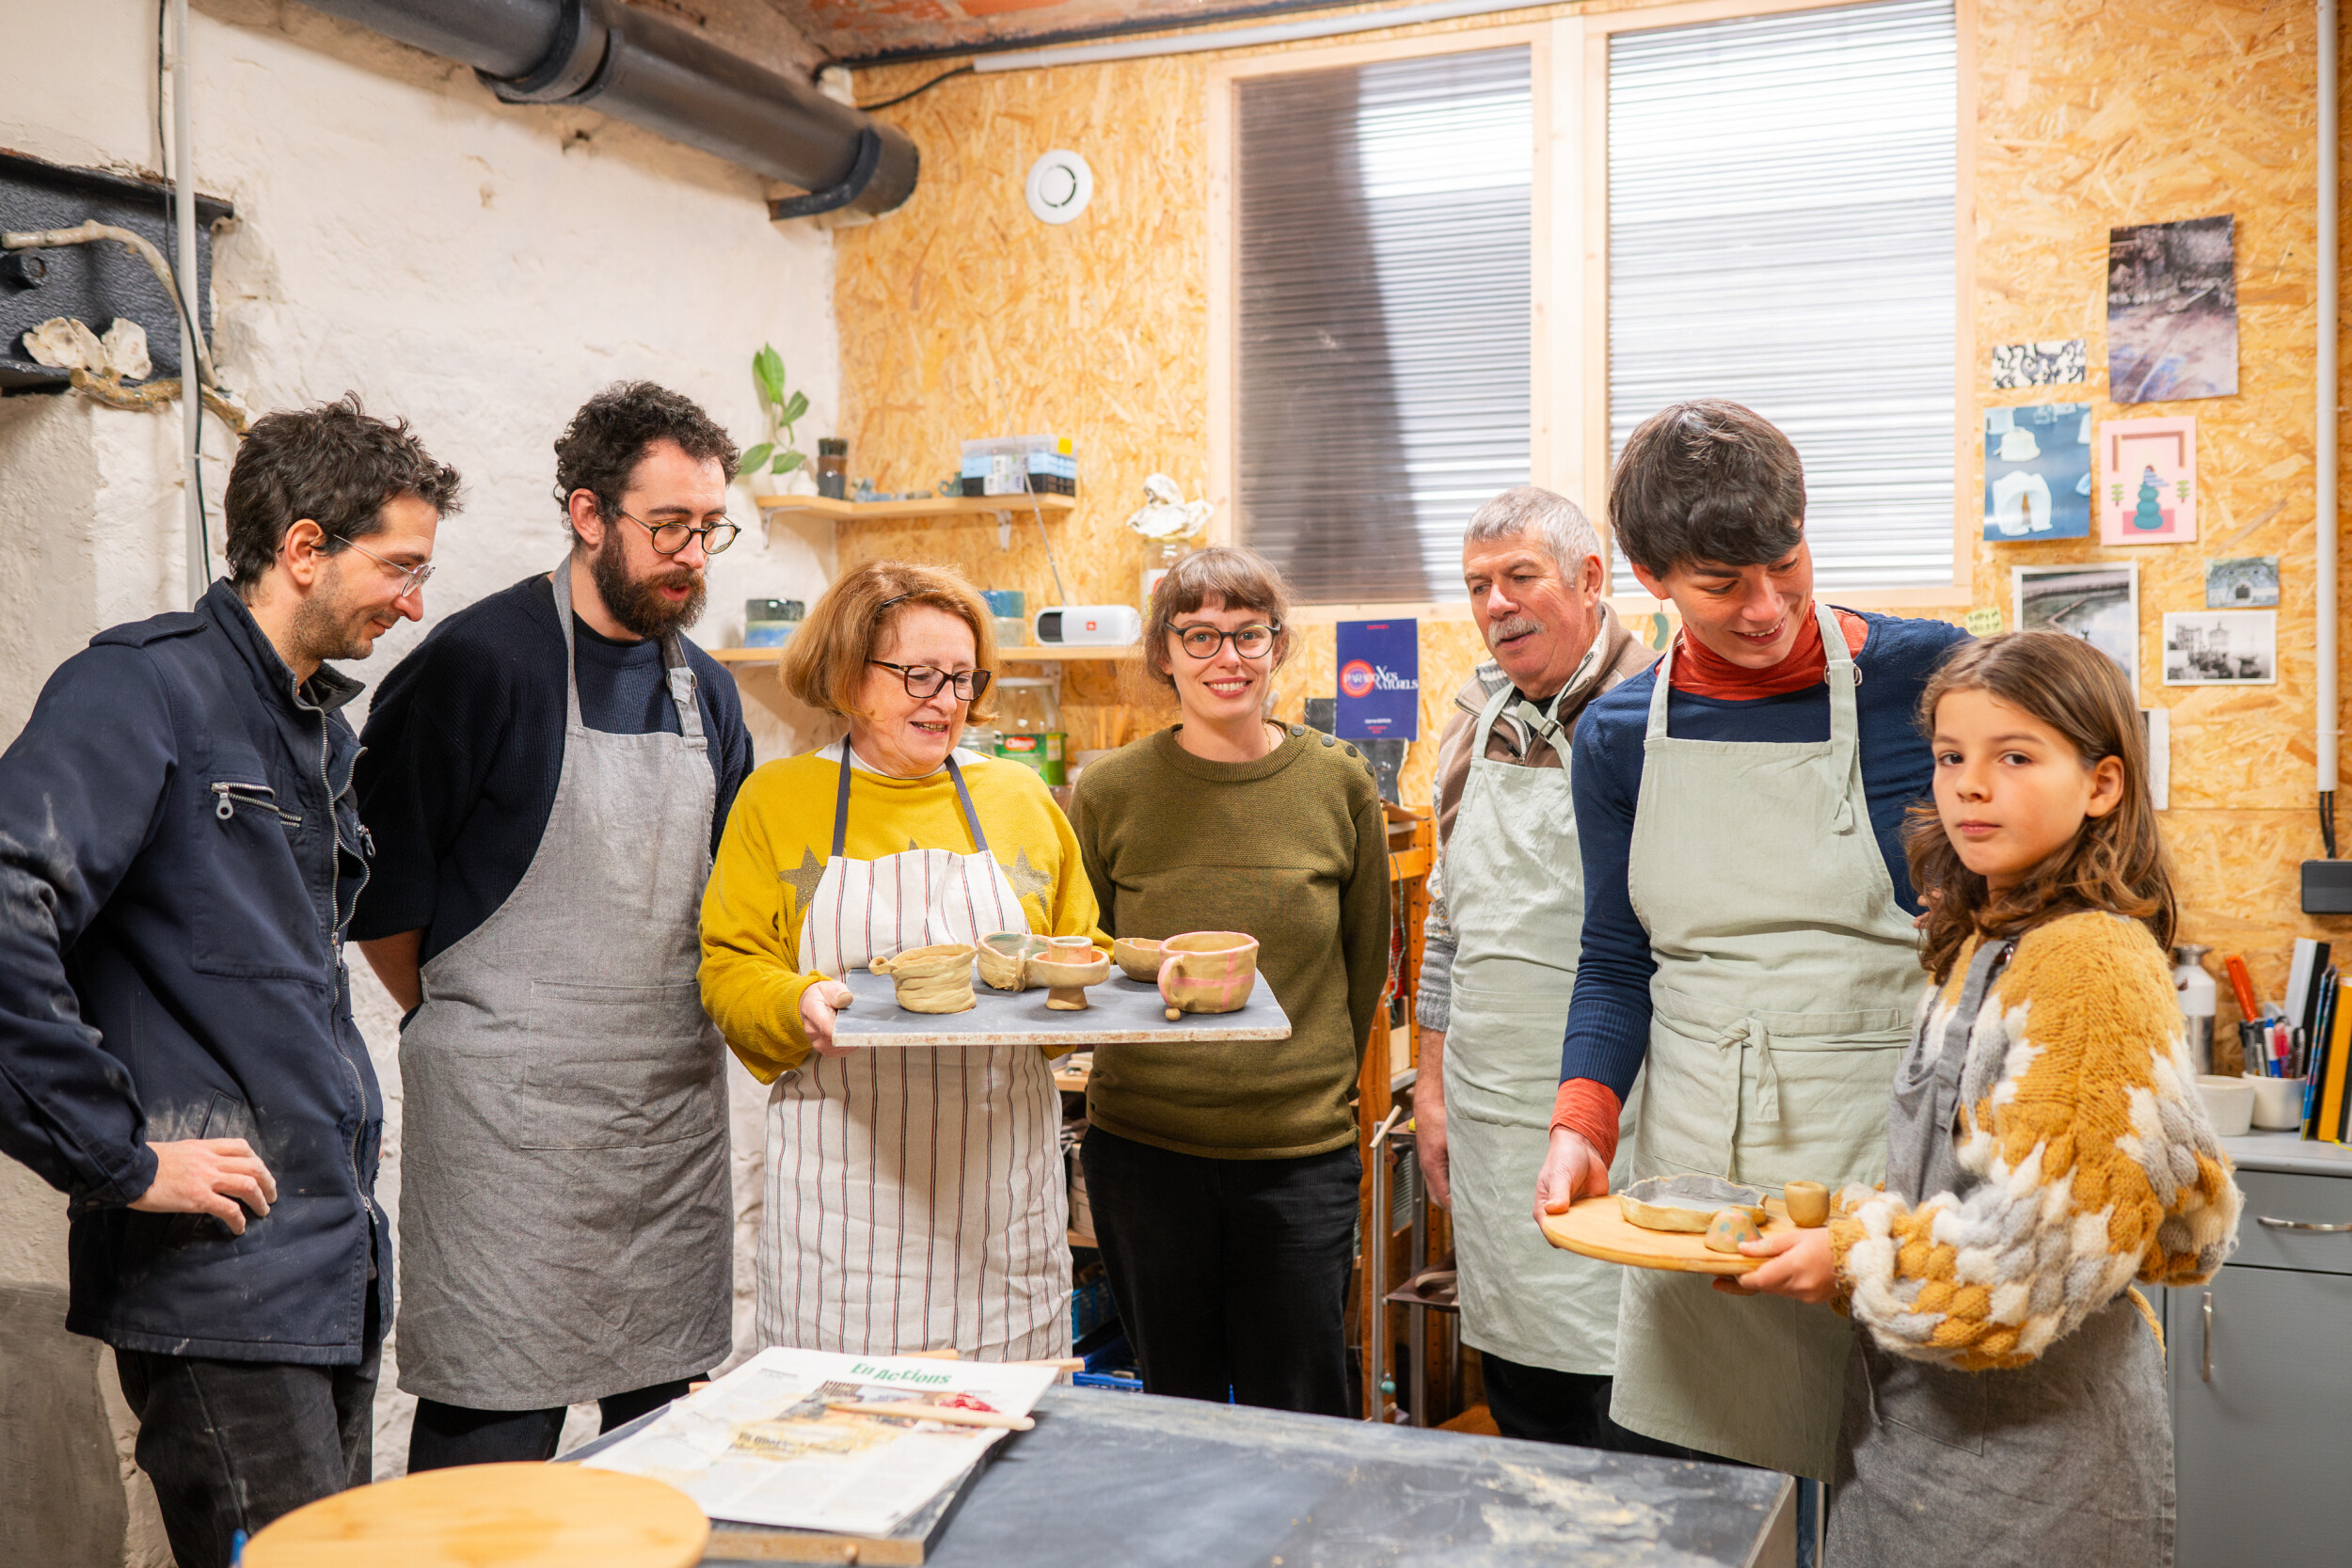
<svg viewBox="0 0 2352 1568"><path fill-rule="evenodd" d="M1903 816L1933 757L1912 715L1966 635L1816 599L1804 468L1733 402L1644 421L1609 520L1682 630L1576 729L1583 957L1536 1208L1609 1190L1635 1074L1632 1178L1877 1182L1919 983ZM1625 1269L1609 1415L1825 1481L1851 1335L1790 1300Z"/></svg>

